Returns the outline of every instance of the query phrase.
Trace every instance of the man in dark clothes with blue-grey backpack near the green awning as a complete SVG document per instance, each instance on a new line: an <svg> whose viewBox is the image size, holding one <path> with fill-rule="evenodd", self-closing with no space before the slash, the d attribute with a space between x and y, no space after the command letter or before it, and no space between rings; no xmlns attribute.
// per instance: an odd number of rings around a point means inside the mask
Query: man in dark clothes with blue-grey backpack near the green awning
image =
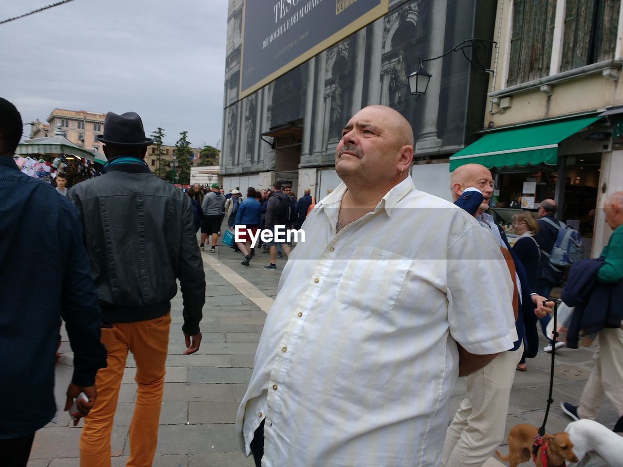
<svg viewBox="0 0 623 467"><path fill-rule="evenodd" d="M551 290L563 280L564 268L571 266L580 258L581 245L579 232L568 229L564 222L556 219L556 201L544 199L538 210L539 230L534 238L541 249L541 264L537 292L549 297ZM554 265L553 263L556 263ZM543 335L547 337L546 328L551 319L549 314L539 318ZM551 352L552 341L543 350ZM556 349L564 347L564 342L556 342Z"/></svg>

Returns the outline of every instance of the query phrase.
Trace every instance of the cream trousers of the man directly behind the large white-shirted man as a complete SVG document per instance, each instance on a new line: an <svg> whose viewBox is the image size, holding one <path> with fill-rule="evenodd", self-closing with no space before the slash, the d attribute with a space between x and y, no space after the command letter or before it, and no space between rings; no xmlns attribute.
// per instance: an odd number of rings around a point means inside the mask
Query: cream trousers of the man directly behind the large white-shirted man
<svg viewBox="0 0 623 467"><path fill-rule="evenodd" d="M523 344L502 352L467 377L467 396L445 435L442 465L481 467L500 446L506 428L510 389Z"/></svg>

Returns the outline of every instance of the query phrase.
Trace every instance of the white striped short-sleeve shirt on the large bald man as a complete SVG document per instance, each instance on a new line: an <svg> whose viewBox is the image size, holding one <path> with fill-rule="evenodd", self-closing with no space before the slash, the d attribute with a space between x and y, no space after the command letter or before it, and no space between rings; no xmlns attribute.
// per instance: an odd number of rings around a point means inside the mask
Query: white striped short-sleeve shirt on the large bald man
<svg viewBox="0 0 623 467"><path fill-rule="evenodd" d="M437 466L458 375L516 340L508 267L464 210L411 177L336 233L316 205L267 316L237 430L265 467Z"/></svg>

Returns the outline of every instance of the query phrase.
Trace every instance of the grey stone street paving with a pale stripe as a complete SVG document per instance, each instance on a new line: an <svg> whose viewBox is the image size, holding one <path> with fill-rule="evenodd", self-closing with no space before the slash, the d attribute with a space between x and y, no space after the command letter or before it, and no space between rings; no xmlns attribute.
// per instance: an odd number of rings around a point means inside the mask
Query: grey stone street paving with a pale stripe
<svg viewBox="0 0 623 467"><path fill-rule="evenodd" d="M236 410L252 372L257 342L266 313L277 293L285 259L277 259L278 270L264 270L269 255L260 250L250 267L240 265L242 255L220 245L218 252L202 253L206 272L206 306L201 323L201 349L183 356L184 336L181 294L173 300L169 357L160 417L155 467L242 467L253 466L252 458L240 453L234 433ZM541 338L541 347L546 345ZM67 336L61 351L71 355ZM592 366L592 349L556 353L554 404L547 431L564 430L571 421L560 410L562 400L578 402ZM528 371L517 372L510 399L506 433L517 423L541 425L548 397L550 356L540 351L528 360ZM112 435L113 466L125 466L128 456L128 425L135 400L135 363L128 356L121 385ZM465 395L465 381L459 380L451 400L451 417ZM46 427L37 432L29 467L78 466L80 425ZM602 406L600 421L608 427L617 420L609 401ZM506 435L500 450L506 453ZM487 466L499 466L490 460ZM526 464L527 465L527 464ZM591 463L593 467L603 463Z"/></svg>

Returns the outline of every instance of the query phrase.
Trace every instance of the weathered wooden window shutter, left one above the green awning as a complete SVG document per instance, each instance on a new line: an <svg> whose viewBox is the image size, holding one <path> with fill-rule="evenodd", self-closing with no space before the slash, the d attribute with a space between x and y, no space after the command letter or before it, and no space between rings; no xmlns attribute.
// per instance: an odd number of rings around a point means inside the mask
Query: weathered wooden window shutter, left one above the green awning
<svg viewBox="0 0 623 467"><path fill-rule="evenodd" d="M579 2L585 0L578 0ZM556 0L515 0L506 85L549 75Z"/></svg>

